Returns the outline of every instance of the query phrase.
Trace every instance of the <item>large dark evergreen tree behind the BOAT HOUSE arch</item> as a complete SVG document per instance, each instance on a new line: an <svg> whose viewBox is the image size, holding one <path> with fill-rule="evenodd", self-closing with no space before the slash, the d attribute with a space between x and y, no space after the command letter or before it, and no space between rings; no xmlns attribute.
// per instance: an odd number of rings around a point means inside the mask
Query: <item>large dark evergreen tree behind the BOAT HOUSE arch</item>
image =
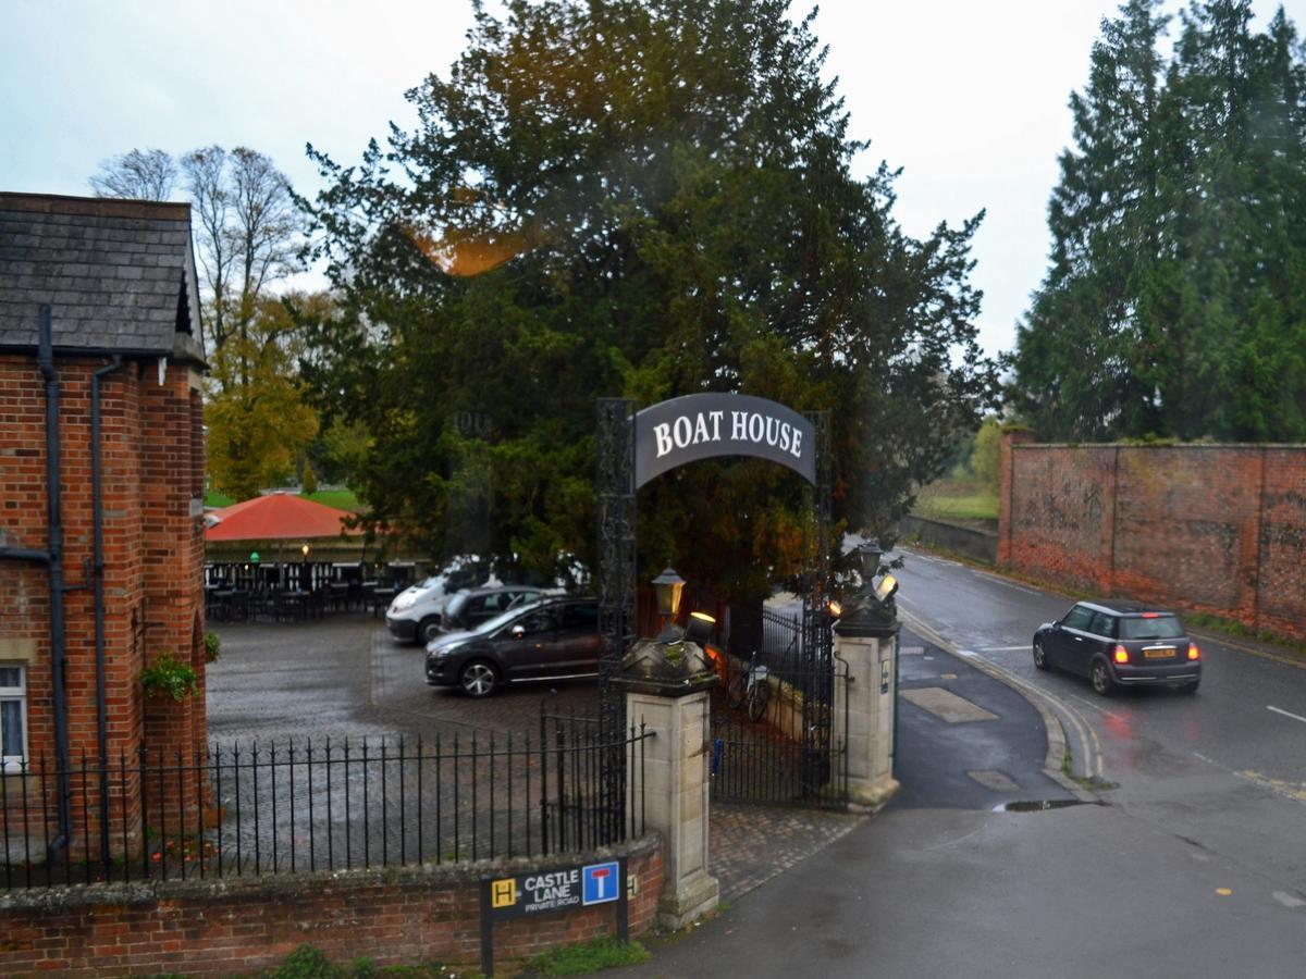
<svg viewBox="0 0 1306 979"><path fill-rule="evenodd" d="M477 7L447 80L312 211L351 316L323 407L370 428L357 488L434 556L593 557L594 402L704 390L833 411L837 518L885 527L994 390L978 218L923 241L782 0ZM641 555L720 593L803 561L803 493L757 461L641 491ZM692 546L683 542L693 542ZM810 540L808 540L810 543Z"/></svg>

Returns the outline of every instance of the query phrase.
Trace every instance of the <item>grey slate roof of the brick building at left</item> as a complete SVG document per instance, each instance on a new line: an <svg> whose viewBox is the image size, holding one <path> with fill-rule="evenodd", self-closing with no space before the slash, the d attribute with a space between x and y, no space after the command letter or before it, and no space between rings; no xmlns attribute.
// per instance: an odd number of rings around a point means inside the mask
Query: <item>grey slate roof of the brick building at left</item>
<svg viewBox="0 0 1306 979"><path fill-rule="evenodd" d="M202 367L191 205L0 192L0 350L35 349L43 303L56 351Z"/></svg>

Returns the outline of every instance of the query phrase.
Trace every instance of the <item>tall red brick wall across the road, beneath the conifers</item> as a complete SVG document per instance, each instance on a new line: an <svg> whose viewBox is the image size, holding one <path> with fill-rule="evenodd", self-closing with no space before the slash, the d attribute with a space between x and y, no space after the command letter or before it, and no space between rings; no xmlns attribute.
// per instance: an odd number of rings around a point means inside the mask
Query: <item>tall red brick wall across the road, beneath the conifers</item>
<svg viewBox="0 0 1306 979"><path fill-rule="evenodd" d="M1306 446L1002 441L998 565L1306 638Z"/></svg>

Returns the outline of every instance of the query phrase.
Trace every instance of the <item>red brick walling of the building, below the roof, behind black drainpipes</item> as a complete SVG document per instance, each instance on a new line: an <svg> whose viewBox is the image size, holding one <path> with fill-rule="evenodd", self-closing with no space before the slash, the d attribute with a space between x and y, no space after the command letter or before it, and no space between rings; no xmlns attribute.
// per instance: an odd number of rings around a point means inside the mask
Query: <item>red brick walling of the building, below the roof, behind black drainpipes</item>
<svg viewBox="0 0 1306 979"><path fill-rule="evenodd" d="M91 375L104 358L56 358L64 526L65 689L69 757L97 758L95 630L91 569ZM101 457L104 542L104 692L108 754L132 757L142 740L182 749L204 743L204 448L199 377L170 364L125 362L101 379ZM0 535L13 548L46 551L46 392L35 358L0 355ZM54 765L50 674L50 576L44 564L0 561L0 659L27 667L29 757ZM191 662L199 697L183 711L154 711L151 724L137 677L161 650ZM7 651L8 650L8 651ZM74 786L73 813L82 811ZM97 787L86 804L94 809ZM112 787L116 795L120 787ZM192 794L193 795L193 794ZM119 803L115 800L115 811ZM132 811L128 803L128 811Z"/></svg>

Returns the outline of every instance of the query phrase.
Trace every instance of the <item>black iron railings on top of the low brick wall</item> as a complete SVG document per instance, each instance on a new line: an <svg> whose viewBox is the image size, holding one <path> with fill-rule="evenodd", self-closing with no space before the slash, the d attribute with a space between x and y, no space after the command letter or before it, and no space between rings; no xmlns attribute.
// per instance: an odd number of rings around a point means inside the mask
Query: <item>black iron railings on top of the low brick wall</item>
<svg viewBox="0 0 1306 979"><path fill-rule="evenodd" d="M643 723L542 714L534 734L291 739L141 749L0 779L0 884L38 888L580 852L644 833ZM614 778L603 766L624 758ZM108 788L108 805L99 788ZM107 816L103 816L107 813Z"/></svg>

